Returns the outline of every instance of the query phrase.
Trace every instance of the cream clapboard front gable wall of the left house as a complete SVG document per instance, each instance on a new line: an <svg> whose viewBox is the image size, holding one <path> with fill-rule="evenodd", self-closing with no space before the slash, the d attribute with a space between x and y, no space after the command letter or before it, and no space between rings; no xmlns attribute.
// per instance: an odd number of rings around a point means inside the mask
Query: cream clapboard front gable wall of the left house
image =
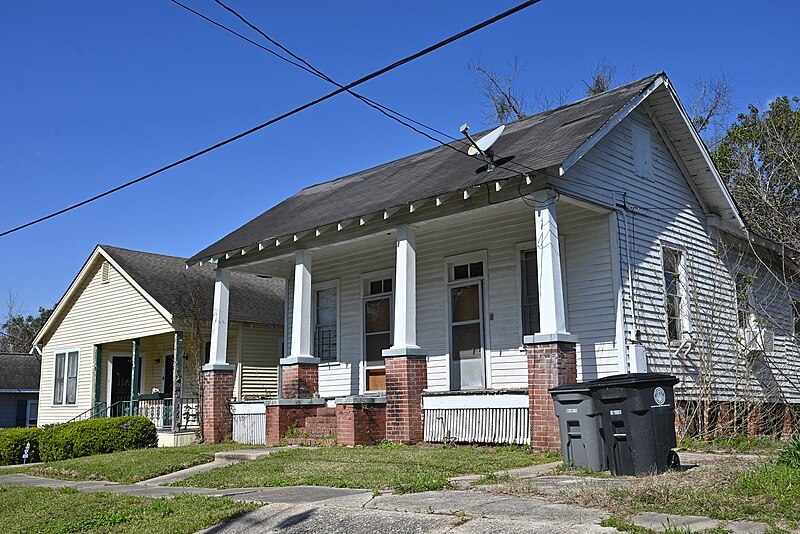
<svg viewBox="0 0 800 534"><path fill-rule="evenodd" d="M44 340L39 424L63 422L89 409L93 393L95 344L172 330L167 319L113 266L110 266L109 281L102 283L101 264L102 261L96 261L91 266L91 274L78 288L74 302L68 303L69 309L55 325L53 335ZM57 406L53 405L55 353L64 349L80 351L77 402L75 405Z"/></svg>

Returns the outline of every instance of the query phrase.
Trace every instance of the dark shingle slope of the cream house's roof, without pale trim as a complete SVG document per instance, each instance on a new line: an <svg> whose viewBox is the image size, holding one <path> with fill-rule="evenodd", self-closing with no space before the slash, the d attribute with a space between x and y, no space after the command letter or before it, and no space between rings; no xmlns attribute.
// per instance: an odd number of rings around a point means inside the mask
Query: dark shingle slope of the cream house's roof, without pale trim
<svg viewBox="0 0 800 534"><path fill-rule="evenodd" d="M193 308L199 298L205 319L211 319L215 273L211 265L186 269L186 258L100 245L117 264L175 317ZM283 324L283 280L231 273L228 319L245 323Z"/></svg>

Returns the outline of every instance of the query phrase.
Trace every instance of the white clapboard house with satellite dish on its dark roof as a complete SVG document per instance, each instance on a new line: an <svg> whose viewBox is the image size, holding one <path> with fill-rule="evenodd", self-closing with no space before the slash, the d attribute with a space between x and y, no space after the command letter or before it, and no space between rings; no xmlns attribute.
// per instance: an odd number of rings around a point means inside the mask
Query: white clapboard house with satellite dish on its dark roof
<svg viewBox="0 0 800 534"><path fill-rule="evenodd" d="M747 376L800 402L798 287L747 297L773 324L742 321L728 252L796 259L747 231L665 74L507 125L492 170L468 146L303 189L189 263L286 280L284 372L314 366L328 405L381 402L389 358L424 355L431 441L533 441L542 343L573 343L579 379L671 372L685 398L730 400ZM756 330L761 371L736 347Z"/></svg>

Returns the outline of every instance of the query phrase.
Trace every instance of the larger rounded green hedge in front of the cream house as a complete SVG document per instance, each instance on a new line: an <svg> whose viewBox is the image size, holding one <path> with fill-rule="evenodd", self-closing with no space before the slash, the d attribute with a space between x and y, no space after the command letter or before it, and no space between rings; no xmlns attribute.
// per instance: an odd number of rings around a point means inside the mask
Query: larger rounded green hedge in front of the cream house
<svg viewBox="0 0 800 534"><path fill-rule="evenodd" d="M111 417L50 427L42 433L40 443L42 461L55 462L155 447L158 435L155 425L146 417Z"/></svg>

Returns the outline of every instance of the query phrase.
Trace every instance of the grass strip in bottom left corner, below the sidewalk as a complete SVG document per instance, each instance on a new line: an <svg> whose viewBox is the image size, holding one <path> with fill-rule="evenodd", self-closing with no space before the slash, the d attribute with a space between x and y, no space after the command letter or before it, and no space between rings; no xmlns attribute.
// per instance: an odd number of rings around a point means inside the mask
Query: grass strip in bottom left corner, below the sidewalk
<svg viewBox="0 0 800 534"><path fill-rule="evenodd" d="M190 533L255 508L255 504L188 494L151 499L74 488L0 486L4 533Z"/></svg>

